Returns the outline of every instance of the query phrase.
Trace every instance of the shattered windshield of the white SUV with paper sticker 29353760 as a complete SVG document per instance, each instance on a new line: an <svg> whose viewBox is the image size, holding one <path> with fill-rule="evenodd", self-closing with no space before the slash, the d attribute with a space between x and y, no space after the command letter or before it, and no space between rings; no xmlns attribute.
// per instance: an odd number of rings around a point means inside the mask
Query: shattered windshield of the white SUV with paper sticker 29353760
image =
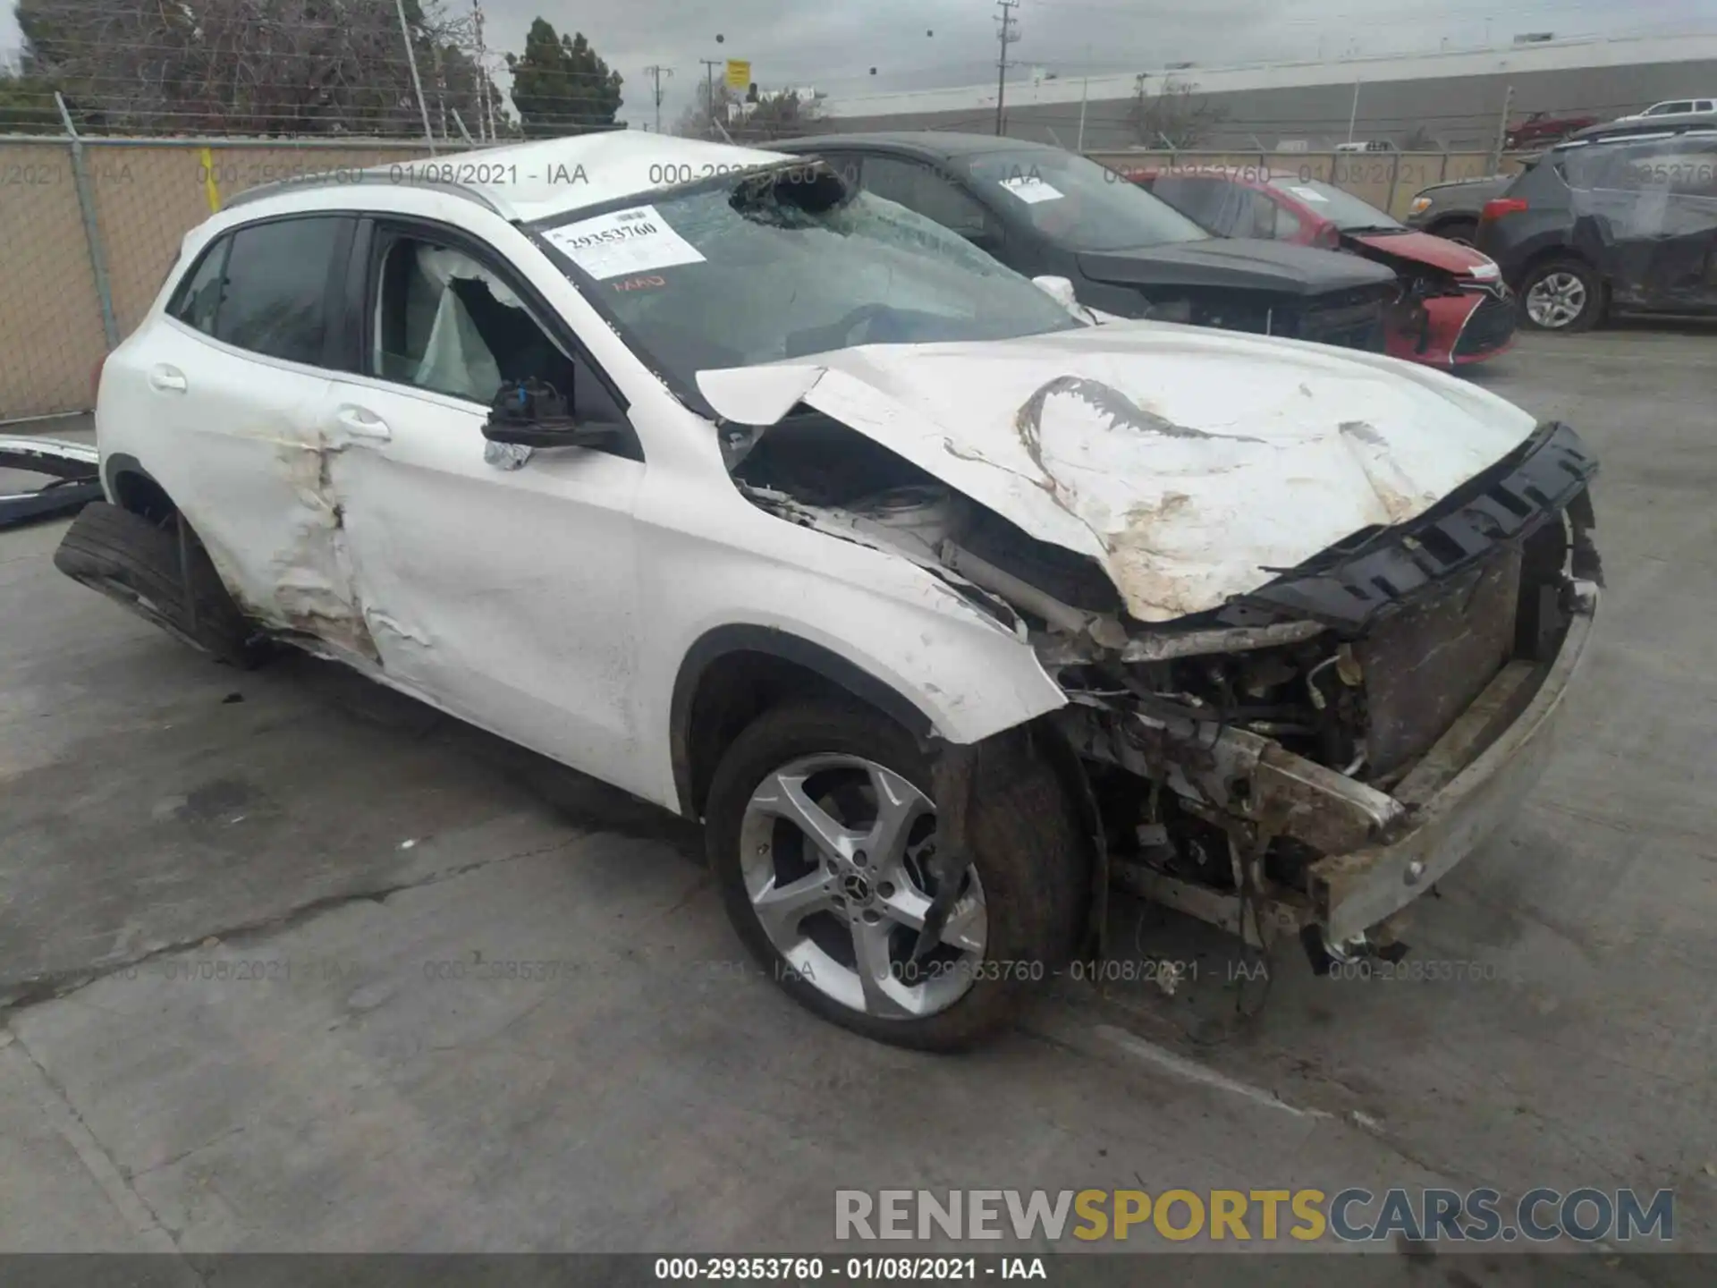
<svg viewBox="0 0 1717 1288"><path fill-rule="evenodd" d="M1080 326L1028 280L822 165L699 185L541 227L651 364L699 371L864 343Z"/></svg>

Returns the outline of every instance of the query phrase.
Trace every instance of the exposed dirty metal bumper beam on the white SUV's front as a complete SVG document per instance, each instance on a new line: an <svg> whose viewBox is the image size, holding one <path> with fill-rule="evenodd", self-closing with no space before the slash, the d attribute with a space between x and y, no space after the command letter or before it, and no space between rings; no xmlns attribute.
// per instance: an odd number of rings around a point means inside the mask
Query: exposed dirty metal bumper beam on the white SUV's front
<svg viewBox="0 0 1717 1288"><path fill-rule="evenodd" d="M1233 890L1145 864L1118 864L1116 884L1260 948L1308 929L1336 951L1387 943L1398 914L1537 785L1597 615L1595 582L1571 579L1564 591L1568 627L1554 654L1504 666L1389 792L1243 730L1065 709L1061 728L1082 754L1169 783L1235 841ZM1291 886L1267 879L1257 862L1279 838L1322 855Z"/></svg>

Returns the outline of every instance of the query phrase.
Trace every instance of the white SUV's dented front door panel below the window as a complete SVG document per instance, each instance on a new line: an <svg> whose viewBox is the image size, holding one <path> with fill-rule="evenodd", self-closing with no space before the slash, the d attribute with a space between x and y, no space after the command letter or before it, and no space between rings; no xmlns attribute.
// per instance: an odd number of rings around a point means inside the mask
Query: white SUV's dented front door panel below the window
<svg viewBox="0 0 1717 1288"><path fill-rule="evenodd" d="M488 464L486 410L335 381L333 486L390 680L622 787L634 781L632 505L644 464L585 448Z"/></svg>

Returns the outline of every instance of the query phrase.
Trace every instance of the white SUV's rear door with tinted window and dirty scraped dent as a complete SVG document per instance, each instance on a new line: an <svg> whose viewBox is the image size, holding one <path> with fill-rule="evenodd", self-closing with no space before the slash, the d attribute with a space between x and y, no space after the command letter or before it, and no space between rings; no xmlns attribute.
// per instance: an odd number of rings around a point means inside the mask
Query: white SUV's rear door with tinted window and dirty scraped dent
<svg viewBox="0 0 1717 1288"><path fill-rule="evenodd" d="M215 240L167 314L110 359L112 404L139 417L141 465L191 520L244 610L357 647L319 409L331 292L357 222L294 215Z"/></svg>

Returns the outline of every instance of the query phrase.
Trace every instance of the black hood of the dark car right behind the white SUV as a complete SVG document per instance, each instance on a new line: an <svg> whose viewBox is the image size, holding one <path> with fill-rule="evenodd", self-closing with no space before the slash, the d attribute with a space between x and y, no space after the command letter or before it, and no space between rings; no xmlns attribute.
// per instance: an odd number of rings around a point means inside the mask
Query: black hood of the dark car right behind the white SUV
<svg viewBox="0 0 1717 1288"><path fill-rule="evenodd" d="M1248 237L1145 246L1137 251L1083 252L1080 271L1092 282L1125 287L1205 287L1324 295L1394 282L1382 264L1308 246Z"/></svg>

